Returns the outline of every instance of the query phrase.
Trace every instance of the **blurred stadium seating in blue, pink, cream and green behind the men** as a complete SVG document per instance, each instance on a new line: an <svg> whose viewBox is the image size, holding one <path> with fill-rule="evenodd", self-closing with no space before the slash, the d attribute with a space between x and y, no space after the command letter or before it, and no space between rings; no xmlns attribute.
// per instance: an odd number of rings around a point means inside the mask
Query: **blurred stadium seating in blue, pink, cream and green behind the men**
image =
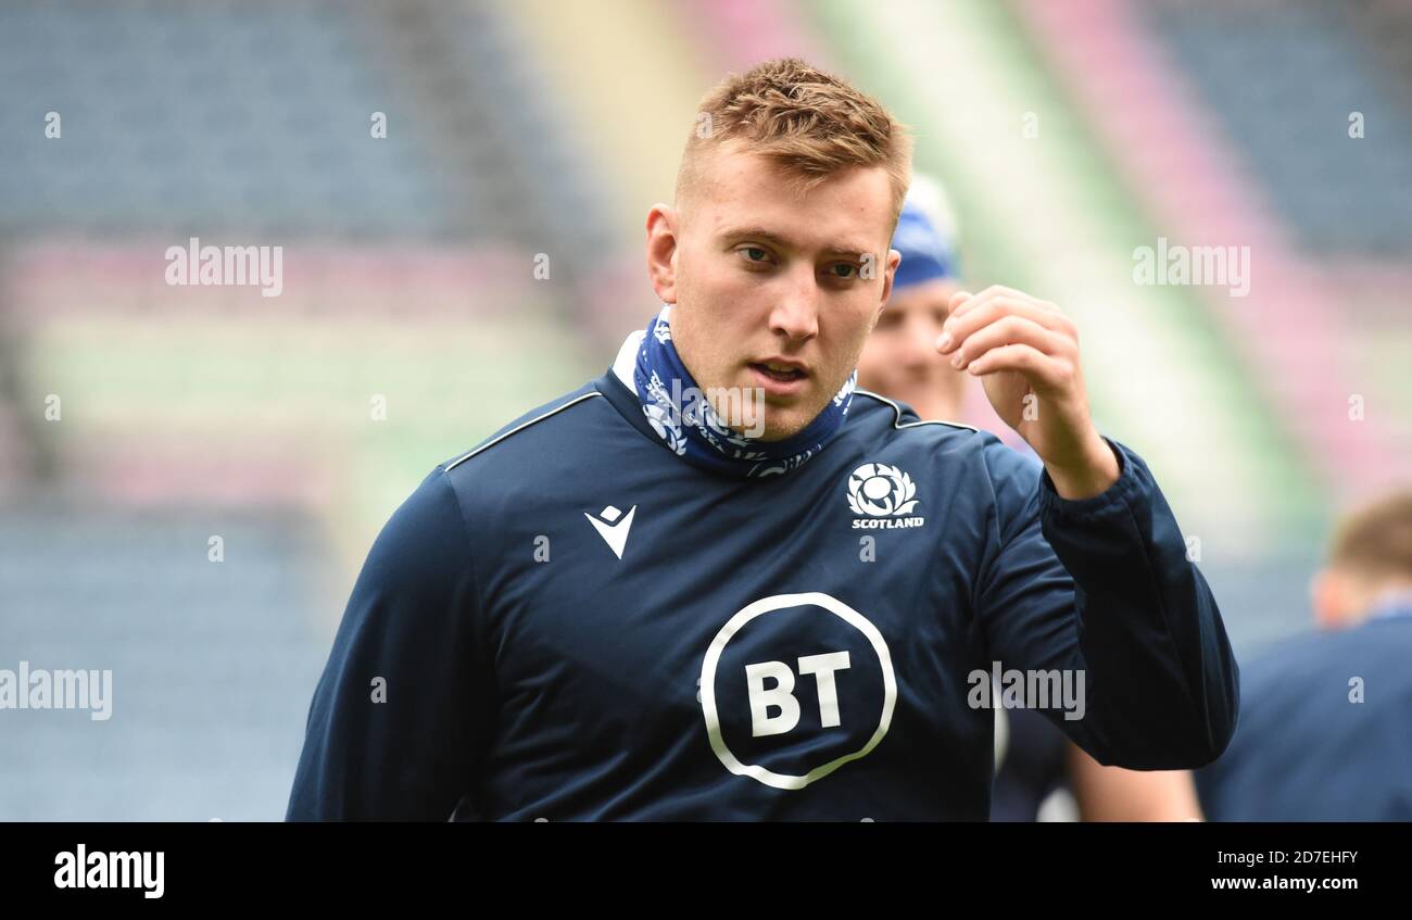
<svg viewBox="0 0 1412 920"><path fill-rule="evenodd" d="M974 285L1077 320L1237 652L1306 628L1412 467L1402 0L7 0L0 667L113 715L0 711L0 820L282 817L378 528L647 323L696 102L781 55L914 127ZM169 285L192 237L282 292ZM1248 295L1135 284L1159 238Z"/></svg>

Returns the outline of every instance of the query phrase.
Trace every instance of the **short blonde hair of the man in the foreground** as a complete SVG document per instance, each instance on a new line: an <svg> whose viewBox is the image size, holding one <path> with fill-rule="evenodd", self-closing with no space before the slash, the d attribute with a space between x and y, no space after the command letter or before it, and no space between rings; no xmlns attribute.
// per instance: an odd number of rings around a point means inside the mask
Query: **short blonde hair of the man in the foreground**
<svg viewBox="0 0 1412 920"><path fill-rule="evenodd" d="M731 73L702 97L676 174L676 200L700 183L703 154L738 140L791 172L801 190L851 167L881 167L892 186L892 219L912 175L907 127L871 96L799 58Z"/></svg>

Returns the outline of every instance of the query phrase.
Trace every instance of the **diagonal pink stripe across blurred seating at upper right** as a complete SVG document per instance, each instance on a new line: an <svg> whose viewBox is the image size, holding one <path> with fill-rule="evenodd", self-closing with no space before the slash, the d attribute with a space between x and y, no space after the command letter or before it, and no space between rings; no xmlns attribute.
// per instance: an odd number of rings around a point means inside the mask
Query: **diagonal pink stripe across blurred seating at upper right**
<svg viewBox="0 0 1412 920"><path fill-rule="evenodd" d="M1123 0L1018 7L1169 244L1248 246L1251 291L1196 288L1336 492L1395 483L1408 446L1368 412L1340 289L1293 251L1261 185ZM1155 244L1155 240L1154 240ZM1401 457L1401 460L1399 460Z"/></svg>

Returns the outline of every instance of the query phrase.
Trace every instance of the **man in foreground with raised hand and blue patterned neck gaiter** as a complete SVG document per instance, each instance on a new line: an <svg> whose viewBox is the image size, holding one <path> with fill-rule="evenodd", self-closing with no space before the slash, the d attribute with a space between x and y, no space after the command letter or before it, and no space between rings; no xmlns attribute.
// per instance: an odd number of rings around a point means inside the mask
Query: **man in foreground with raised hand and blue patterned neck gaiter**
<svg viewBox="0 0 1412 920"><path fill-rule="evenodd" d="M856 395L902 127L795 59L702 113L647 219L666 306L393 515L288 817L984 820L967 676L993 662L1086 694L1053 718L1100 761L1216 758L1220 612L1147 466L1096 430L1073 325L991 288L942 346L1042 467Z"/></svg>

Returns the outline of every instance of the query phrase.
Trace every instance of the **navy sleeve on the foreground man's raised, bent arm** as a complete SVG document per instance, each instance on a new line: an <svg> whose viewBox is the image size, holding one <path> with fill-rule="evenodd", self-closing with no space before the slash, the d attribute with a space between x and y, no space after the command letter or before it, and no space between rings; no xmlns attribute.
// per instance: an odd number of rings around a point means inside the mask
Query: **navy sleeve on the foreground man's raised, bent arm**
<svg viewBox="0 0 1412 920"><path fill-rule="evenodd" d="M977 583L981 628L1005 669L1084 672L1084 717L1043 714L1100 763L1197 768L1236 730L1236 656L1152 473L1108 443L1118 480L1079 501L1038 461L987 444L1000 540Z"/></svg>

